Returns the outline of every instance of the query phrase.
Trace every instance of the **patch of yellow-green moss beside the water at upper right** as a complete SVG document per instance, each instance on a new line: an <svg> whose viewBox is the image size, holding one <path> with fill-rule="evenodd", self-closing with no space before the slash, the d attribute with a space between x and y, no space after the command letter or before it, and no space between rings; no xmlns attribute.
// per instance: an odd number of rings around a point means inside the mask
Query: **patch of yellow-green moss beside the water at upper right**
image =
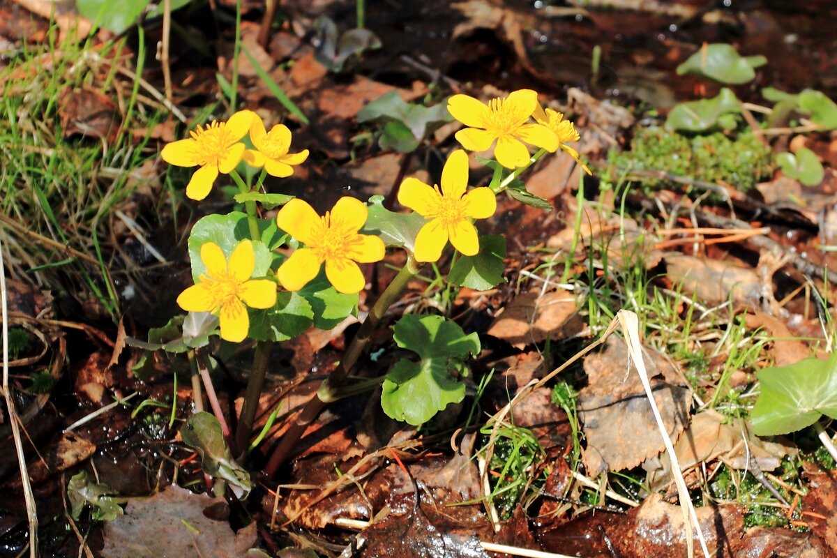
<svg viewBox="0 0 837 558"><path fill-rule="evenodd" d="M663 128L643 128L631 141L630 151L611 151L608 161L621 170L665 171L704 182L726 182L742 192L773 174L770 147L752 131L732 140L721 132L684 136ZM644 182L653 186L660 181Z"/></svg>

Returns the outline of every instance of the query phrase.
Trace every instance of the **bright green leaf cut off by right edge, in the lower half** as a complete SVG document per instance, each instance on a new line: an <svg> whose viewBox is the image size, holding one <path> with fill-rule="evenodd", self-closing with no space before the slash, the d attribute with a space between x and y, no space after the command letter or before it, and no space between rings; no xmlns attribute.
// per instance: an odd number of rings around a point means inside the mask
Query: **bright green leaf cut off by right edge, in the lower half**
<svg viewBox="0 0 837 558"><path fill-rule="evenodd" d="M762 392L750 413L752 432L778 436L802 430L819 417L837 418L837 353L757 373Z"/></svg>

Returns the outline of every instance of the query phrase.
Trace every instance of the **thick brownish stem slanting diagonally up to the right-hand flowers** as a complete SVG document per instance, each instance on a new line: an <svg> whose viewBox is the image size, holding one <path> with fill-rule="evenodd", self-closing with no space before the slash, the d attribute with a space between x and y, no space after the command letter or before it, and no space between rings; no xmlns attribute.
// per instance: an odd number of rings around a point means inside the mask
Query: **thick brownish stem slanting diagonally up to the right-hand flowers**
<svg viewBox="0 0 837 558"><path fill-rule="evenodd" d="M420 264L417 264L413 260L413 257L410 256L392 283L388 284L387 288L381 293L381 296L378 297L375 305L372 306L372 310L369 310L367 319L363 320L360 329L357 330L357 334L352 339L352 343L347 347L346 352L343 353L340 364L320 384L316 395L311 397L306 403L306 407L302 410L300 417L290 425L285 436L282 437L279 446L276 447L273 455L270 456L270 461L268 461L267 467L264 469L265 473L270 477L274 476L282 463L287 461L291 451L302 437L302 434L305 433L308 425L314 422L314 419L320 414L322 408L326 406L326 403L336 399L337 388L341 386L343 381L346 381L347 376L355 364L357 364L357 359L366 350L369 341L372 340L372 333L377 328L377 325L381 322L383 316L386 315L389 307L393 305L395 299L398 298L398 294L401 294L401 291L407 286L408 281L413 279L415 274L419 273L419 269Z"/></svg>

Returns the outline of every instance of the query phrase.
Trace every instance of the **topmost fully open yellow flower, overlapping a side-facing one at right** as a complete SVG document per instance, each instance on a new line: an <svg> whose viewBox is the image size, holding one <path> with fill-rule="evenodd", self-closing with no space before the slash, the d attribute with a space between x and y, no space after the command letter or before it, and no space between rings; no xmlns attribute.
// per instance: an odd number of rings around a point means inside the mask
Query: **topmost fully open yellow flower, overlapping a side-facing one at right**
<svg viewBox="0 0 837 558"><path fill-rule="evenodd" d="M509 169L529 163L529 150L522 141L549 152L558 148L547 126L529 123L536 106L537 93L532 90L513 91L506 99L493 99L488 105L469 95L454 95L448 100L450 114L469 126L456 132L462 146L485 151L496 140L494 156Z"/></svg>

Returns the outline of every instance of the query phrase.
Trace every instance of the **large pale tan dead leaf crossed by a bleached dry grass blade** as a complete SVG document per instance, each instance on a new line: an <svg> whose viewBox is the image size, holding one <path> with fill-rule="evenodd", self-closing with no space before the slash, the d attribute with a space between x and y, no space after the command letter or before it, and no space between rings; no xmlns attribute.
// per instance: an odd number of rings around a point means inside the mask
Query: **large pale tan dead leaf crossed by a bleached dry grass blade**
<svg viewBox="0 0 837 558"><path fill-rule="evenodd" d="M675 441L689 422L691 389L665 356L647 347L644 356L666 432ZM587 439L583 462L591 477L634 468L665 447L639 375L628 363L628 348L615 335L603 351L584 360L588 386L578 394L578 411Z"/></svg>

